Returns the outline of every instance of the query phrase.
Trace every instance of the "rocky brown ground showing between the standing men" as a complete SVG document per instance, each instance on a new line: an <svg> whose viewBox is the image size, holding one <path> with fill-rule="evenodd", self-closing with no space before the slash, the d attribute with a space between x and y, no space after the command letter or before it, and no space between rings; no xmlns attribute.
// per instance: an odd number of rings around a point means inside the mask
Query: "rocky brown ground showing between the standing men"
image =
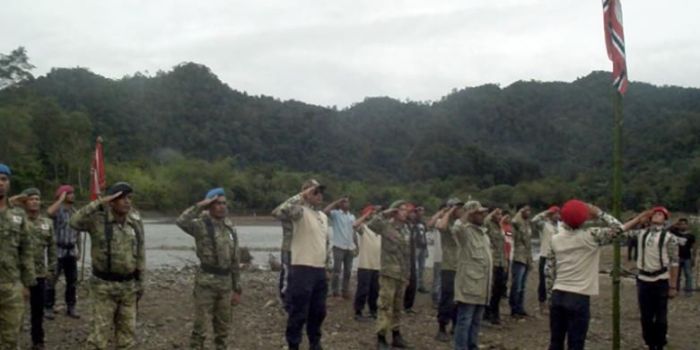
<svg viewBox="0 0 700 350"><path fill-rule="evenodd" d="M609 261L609 253L603 261ZM606 266L607 264L602 264ZM138 322L139 349L183 349L192 327L191 290L194 270L163 268L149 274L148 290L141 301ZM247 271L243 273L245 288L242 304L234 309L231 349L284 349L285 313L276 302L275 272ZM428 276L430 278L430 276ZM354 281L353 281L354 283ZM527 311L533 316L511 319L507 302L502 304L504 323L484 326L482 349L546 349L549 339L548 319L537 313L537 276L531 273L526 293ZM601 295L592 299L588 349L610 349L611 283L601 274ZM62 295L61 290L59 294ZM47 349L77 349L87 337L89 326L89 297L80 291L79 311L83 318L73 320L63 316L62 305L53 321L46 321ZM622 349L644 349L637 311L634 281L622 283ZM433 339L436 331L435 310L429 295L419 294L415 315L403 317L403 333L416 349L451 349L450 345ZM358 323L352 318L352 302L328 300L328 317L324 323L325 349L372 349L374 324ZM670 303L669 349L700 349L700 293L680 296ZM25 332L23 345L28 346Z"/></svg>

